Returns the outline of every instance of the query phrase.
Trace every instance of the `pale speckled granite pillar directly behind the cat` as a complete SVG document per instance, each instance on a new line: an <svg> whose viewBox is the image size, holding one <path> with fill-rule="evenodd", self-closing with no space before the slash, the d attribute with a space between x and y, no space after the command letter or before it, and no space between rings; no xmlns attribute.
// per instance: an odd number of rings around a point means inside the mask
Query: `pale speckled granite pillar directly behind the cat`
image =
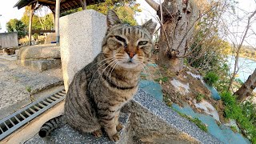
<svg viewBox="0 0 256 144"><path fill-rule="evenodd" d="M92 62L102 50L106 16L95 10L82 10L60 18L60 47L65 90L74 74Z"/></svg>

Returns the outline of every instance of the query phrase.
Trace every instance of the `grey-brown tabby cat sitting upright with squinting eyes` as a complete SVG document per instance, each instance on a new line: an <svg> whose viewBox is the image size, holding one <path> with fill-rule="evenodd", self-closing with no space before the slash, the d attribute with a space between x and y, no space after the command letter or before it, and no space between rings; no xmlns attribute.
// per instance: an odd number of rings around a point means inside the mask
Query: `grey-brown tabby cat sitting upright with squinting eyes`
<svg viewBox="0 0 256 144"><path fill-rule="evenodd" d="M139 75L150 58L157 24L152 20L142 26L122 24L113 10L108 11L106 19L102 52L74 75L60 118L74 129L96 137L104 128L110 140L118 141L118 131L123 127L118 122L120 109L138 90ZM46 122L39 135L45 137L58 123L54 119Z"/></svg>

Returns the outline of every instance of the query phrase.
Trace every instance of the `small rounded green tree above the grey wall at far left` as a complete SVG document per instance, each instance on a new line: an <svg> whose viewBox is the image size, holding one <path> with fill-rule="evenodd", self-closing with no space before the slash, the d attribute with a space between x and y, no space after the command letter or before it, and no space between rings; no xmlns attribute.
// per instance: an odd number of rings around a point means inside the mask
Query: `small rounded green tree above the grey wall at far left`
<svg viewBox="0 0 256 144"><path fill-rule="evenodd" d="M17 31L18 39L23 38L26 35L25 27L24 23L17 18L10 19L10 21L6 23L8 32Z"/></svg>

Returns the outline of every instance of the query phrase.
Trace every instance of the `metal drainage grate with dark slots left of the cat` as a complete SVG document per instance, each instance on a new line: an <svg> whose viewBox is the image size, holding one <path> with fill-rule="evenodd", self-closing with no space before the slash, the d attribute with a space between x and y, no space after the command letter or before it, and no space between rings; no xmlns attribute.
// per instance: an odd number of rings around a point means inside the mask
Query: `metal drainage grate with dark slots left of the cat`
<svg viewBox="0 0 256 144"><path fill-rule="evenodd" d="M27 122L30 122L39 114L48 110L51 106L61 102L64 98L66 98L66 92L65 90L61 90L56 94L41 98L37 102L33 102L14 114L10 114L6 118L3 118L0 121L0 140L6 138L6 136L13 133Z"/></svg>

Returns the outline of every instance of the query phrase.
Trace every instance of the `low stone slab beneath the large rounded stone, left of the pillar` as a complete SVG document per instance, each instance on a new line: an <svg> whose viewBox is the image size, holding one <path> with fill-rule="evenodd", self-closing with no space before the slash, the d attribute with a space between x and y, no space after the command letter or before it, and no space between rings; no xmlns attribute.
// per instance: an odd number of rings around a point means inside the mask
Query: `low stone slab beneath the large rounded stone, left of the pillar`
<svg viewBox="0 0 256 144"><path fill-rule="evenodd" d="M52 68L61 68L61 59L49 59L49 60L18 60L18 65L26 66L31 70L49 70Z"/></svg>

